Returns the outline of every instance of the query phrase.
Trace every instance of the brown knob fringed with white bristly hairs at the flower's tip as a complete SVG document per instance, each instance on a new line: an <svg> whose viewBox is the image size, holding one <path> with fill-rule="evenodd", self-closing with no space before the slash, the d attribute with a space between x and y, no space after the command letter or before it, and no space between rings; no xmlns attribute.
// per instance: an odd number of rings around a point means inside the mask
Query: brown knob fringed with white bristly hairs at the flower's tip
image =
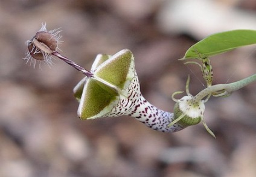
<svg viewBox="0 0 256 177"><path fill-rule="evenodd" d="M28 51L25 58L23 58L27 60L27 64L29 63L30 66L36 67L36 63L39 61L40 68L40 63L43 61L48 66L53 65L52 53L60 50L59 43L62 43L60 41L62 36L59 34L61 32L59 29L47 31L46 23L42 23L42 27L36 35L27 41Z"/></svg>

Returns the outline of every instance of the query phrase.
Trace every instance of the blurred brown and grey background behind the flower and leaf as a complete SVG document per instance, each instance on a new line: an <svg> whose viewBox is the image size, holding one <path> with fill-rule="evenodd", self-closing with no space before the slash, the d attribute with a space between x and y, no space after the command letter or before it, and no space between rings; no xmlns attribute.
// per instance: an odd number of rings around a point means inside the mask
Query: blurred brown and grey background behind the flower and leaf
<svg viewBox="0 0 256 177"><path fill-rule="evenodd" d="M129 48L144 97L172 111L188 74L193 95L205 87L199 67L178 59L212 33L255 30L255 10L250 0L1 0L0 176L255 176L255 83L206 103L214 139L202 124L167 134L126 116L79 120L72 88L82 73L22 60L44 22L61 27L62 54L86 69L98 53ZM214 84L255 73L255 48L213 57Z"/></svg>

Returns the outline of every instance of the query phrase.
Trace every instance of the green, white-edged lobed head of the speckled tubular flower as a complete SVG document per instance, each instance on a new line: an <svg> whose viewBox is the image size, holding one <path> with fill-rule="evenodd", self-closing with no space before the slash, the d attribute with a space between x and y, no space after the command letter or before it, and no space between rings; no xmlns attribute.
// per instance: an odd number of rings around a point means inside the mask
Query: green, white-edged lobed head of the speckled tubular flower
<svg viewBox="0 0 256 177"><path fill-rule="evenodd" d="M113 56L99 54L92 65L92 72L92 78L83 79L74 88L80 101L80 119L104 117L118 104L120 95L126 96L125 88L136 75L133 54L128 49Z"/></svg>

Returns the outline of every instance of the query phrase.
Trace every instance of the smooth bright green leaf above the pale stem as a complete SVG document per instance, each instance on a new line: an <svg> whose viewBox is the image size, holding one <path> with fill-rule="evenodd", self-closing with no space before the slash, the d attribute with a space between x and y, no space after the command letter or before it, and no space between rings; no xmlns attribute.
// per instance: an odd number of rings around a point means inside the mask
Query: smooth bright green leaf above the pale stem
<svg viewBox="0 0 256 177"><path fill-rule="evenodd" d="M210 57L242 46L256 44L255 30L232 30L216 33L191 46L184 58Z"/></svg>

